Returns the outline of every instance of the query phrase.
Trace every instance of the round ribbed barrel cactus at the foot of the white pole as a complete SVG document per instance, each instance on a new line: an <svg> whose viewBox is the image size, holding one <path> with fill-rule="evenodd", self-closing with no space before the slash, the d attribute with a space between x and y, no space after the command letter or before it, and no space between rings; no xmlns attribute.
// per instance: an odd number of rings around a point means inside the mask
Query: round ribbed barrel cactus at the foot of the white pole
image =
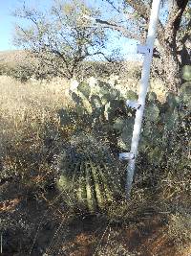
<svg viewBox="0 0 191 256"><path fill-rule="evenodd" d="M90 212L103 210L119 195L118 168L109 147L82 132L71 138L59 158L57 187L71 207Z"/></svg>

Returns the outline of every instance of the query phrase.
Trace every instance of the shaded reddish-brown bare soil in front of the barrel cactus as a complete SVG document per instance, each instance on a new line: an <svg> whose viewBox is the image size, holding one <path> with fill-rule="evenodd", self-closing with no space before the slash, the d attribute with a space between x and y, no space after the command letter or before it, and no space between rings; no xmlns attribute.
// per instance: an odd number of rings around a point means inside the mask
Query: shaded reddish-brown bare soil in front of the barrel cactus
<svg viewBox="0 0 191 256"><path fill-rule="evenodd" d="M161 214L144 211L135 222L110 222L105 215L71 214L54 188L39 193L19 182L0 185L2 256L190 256L166 235Z"/></svg>

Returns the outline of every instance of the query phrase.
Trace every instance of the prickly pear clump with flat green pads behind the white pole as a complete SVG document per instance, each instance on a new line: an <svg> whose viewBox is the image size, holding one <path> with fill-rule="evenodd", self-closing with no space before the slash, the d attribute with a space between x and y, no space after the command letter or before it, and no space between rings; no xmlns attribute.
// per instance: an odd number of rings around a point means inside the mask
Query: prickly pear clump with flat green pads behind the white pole
<svg viewBox="0 0 191 256"><path fill-rule="evenodd" d="M179 97L168 93L163 105L159 103L154 92L148 95L139 148L149 155L149 161L153 161L155 165L161 161L163 155L159 151L171 147L169 134L177 132L180 127L180 118L185 113L184 108L181 110L181 105L188 107L190 104L189 88L189 84L183 84ZM118 151L130 151L136 111L125 106L125 99L138 100L134 91L123 92L124 96L111 84L96 81L94 86L81 82L71 94L77 114L81 118L83 116L89 128L93 131L98 129L99 134L108 137L111 145L116 143Z"/></svg>

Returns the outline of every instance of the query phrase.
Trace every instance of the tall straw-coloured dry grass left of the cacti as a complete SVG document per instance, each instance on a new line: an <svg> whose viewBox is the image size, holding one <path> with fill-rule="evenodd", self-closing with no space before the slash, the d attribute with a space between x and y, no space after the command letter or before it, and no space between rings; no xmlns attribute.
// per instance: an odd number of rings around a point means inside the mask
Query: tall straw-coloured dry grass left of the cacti
<svg viewBox="0 0 191 256"><path fill-rule="evenodd" d="M66 130L57 111L70 104L67 81L50 84L38 81L20 83L8 77L0 81L0 148L3 171L10 175L40 179L49 172L51 157L60 149ZM46 172L45 172L46 170ZM33 180L34 181L34 180Z"/></svg>

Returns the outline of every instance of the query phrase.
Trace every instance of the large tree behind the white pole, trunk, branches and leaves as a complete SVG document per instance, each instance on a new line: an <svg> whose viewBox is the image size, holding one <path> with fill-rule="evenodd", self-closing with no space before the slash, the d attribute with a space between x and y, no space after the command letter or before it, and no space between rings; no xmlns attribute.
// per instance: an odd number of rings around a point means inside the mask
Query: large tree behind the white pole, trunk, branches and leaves
<svg viewBox="0 0 191 256"><path fill-rule="evenodd" d="M126 37L141 43L145 41L148 30L151 0L103 0L118 13L118 19L96 22L108 25ZM191 64L191 1L163 1L159 20L159 33L154 51L154 69L168 84L169 90L177 92L180 88L180 69ZM122 24L122 25L121 25Z"/></svg>

